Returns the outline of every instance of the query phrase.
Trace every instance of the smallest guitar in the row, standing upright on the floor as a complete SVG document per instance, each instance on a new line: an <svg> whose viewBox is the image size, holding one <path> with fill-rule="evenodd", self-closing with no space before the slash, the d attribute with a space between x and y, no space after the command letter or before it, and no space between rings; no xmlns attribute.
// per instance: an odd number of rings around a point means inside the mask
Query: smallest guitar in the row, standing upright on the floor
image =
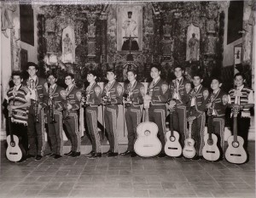
<svg viewBox="0 0 256 198"><path fill-rule="evenodd" d="M191 138L192 124L193 121L189 121L189 138L185 139L183 148L183 156L189 159L195 156L195 140Z"/></svg>

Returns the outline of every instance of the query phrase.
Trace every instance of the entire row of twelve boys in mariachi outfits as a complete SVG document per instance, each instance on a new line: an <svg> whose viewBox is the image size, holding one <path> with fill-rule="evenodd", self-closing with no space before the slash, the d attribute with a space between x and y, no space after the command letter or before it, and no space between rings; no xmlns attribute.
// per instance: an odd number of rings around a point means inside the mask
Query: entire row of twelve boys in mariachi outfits
<svg viewBox="0 0 256 198"><path fill-rule="evenodd" d="M202 86L202 76L193 76L193 85L183 77L183 68L176 66L174 74L176 79L169 85L160 77L160 68L152 66L150 76L153 81L148 83L147 90L143 83L137 82L137 72L127 71L129 83L124 88L116 81L115 71L107 72L108 83L103 89L96 83L96 71L89 71L87 81L90 85L84 90L85 94L75 86L74 76L68 73L65 76L67 88L57 85L55 73L47 75L47 81L37 76L38 65L29 62L27 72L29 78L23 81L21 73L14 71L12 74L14 88L7 93L9 101L8 109L12 112L13 127L19 128L21 143L26 150L27 158L34 157L41 160L44 156L44 123L48 125L49 145L51 152L45 156L53 156L55 159L63 156L62 123L66 128L68 138L72 143L70 152L65 156L80 156L79 134L79 108L84 107L85 123L90 134L92 144L91 152L86 155L89 159L97 157L118 156L118 132L117 117L118 105L125 106L125 121L128 130L128 148L123 156L137 156L134 151L134 143L137 138L137 126L142 121L143 97L150 96L148 116L150 122L155 122L159 127L159 139L162 150L158 157L165 157L164 146L166 143L166 113L172 108L174 130L181 135L180 143L188 138L187 122L192 122L192 139L195 139L195 160L202 158L203 136L206 123L206 111L211 110L213 117L213 133L218 135L218 141L224 151L224 123L226 108L237 107L238 135L244 141L247 150L247 134L250 127L250 108L253 107L253 90L244 86L245 78L241 73L235 75L236 88L229 94L221 89L222 82L218 77L212 77L211 88ZM22 83L23 82L23 83ZM192 88L193 87L193 88ZM239 93L239 94L237 94ZM168 104L168 108L166 108ZM108 133L110 149L102 153L101 139L97 130L98 106L103 105L104 122ZM28 113L27 113L28 110ZM45 116L46 115L46 120ZM27 125L27 127L26 127ZM14 130L15 132L15 130ZM27 135L26 135L27 134ZM28 139L27 139L28 138ZM28 146L29 145L29 146Z"/></svg>

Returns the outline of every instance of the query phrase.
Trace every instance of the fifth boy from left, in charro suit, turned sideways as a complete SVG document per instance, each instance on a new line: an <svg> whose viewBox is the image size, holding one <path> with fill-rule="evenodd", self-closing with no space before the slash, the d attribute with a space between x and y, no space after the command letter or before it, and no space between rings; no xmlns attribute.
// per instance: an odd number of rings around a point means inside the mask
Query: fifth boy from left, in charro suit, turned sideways
<svg viewBox="0 0 256 198"><path fill-rule="evenodd" d="M86 97L82 98L82 105L84 105L86 112L86 124L89 130L92 151L87 158L95 159L102 156L101 139L98 133L97 127L97 116L98 116L98 105L101 105L102 88L96 83L96 71L89 71L87 74L87 81L90 85L86 88Z"/></svg>

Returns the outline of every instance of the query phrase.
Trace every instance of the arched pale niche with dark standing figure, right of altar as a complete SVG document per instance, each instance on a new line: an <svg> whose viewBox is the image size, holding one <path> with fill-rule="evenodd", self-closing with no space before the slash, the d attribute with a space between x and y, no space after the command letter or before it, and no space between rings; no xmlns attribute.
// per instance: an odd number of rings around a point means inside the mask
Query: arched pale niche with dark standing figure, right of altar
<svg viewBox="0 0 256 198"><path fill-rule="evenodd" d="M200 29L191 24L187 31L186 61L199 60L200 54Z"/></svg>

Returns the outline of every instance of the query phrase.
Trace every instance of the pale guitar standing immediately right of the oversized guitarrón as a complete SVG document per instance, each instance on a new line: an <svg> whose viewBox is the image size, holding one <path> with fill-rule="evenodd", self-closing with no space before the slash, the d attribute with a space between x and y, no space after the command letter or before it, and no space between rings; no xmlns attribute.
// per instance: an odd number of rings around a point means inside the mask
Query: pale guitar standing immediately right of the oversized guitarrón
<svg viewBox="0 0 256 198"><path fill-rule="evenodd" d="M170 131L166 133L166 145L165 152L167 156L180 156L183 149L179 143L179 133L173 131L173 111L174 108L170 108Z"/></svg>

